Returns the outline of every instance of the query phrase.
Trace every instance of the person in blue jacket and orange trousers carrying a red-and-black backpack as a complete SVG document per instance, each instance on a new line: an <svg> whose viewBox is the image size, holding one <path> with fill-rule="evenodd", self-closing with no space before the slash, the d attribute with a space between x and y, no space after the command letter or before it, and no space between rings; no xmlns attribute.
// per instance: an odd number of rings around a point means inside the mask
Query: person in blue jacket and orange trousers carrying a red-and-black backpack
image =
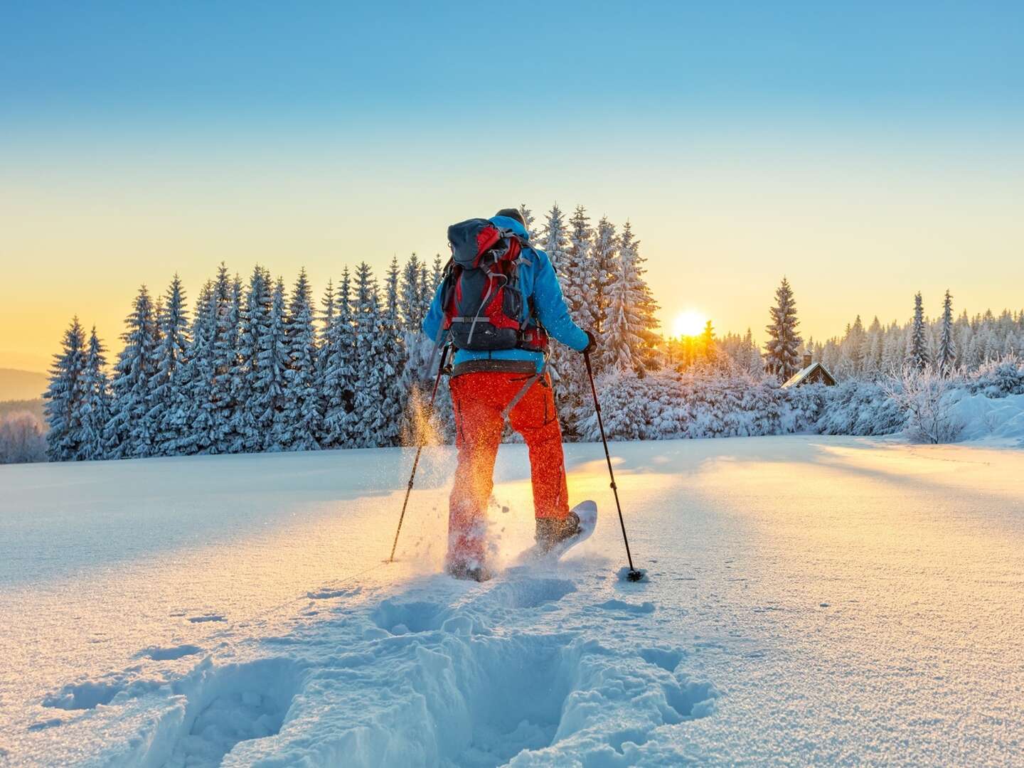
<svg viewBox="0 0 1024 768"><path fill-rule="evenodd" d="M450 388L459 452L449 502L446 570L483 581L486 508L505 418L529 451L539 549L580 531L569 511L562 433L547 373L548 336L589 352L594 337L569 316L544 251L517 209L449 228L453 260L423 331L455 346Z"/></svg>

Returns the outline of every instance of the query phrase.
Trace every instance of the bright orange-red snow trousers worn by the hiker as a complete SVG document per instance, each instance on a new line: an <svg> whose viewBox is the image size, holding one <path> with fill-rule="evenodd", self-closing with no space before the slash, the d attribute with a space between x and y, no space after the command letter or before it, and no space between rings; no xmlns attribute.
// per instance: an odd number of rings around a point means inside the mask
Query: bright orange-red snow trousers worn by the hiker
<svg viewBox="0 0 1024 768"><path fill-rule="evenodd" d="M512 401L529 374L475 372L452 378L456 445L459 466L449 502L450 546L478 549L487 501L494 489L495 459L502 440L502 411ZM529 450L537 517L565 517L569 513L565 484L562 430L558 426L551 379L534 382L509 414L512 428Z"/></svg>

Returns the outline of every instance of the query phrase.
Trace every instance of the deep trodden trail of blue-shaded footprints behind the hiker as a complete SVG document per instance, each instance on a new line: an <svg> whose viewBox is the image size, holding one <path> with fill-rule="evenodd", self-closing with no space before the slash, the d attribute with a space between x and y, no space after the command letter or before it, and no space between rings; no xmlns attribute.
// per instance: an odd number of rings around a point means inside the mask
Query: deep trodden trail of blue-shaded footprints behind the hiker
<svg viewBox="0 0 1024 768"><path fill-rule="evenodd" d="M315 598L334 602L330 618L234 652L251 660L209 655L179 679L136 691L163 712L104 760L482 768L546 765L571 749L600 758L588 764L628 765L631 750L656 728L710 714L719 695L710 682L677 672L685 657L678 649L634 651L580 629L520 629L543 625L563 598L581 597L571 580L517 569L475 589L435 575L379 600L331 592ZM606 602L627 621L653 612L651 603ZM585 623L592 604L583 599L571 613ZM194 654L180 650L145 655ZM54 701L127 702L130 686L117 681L130 672L70 686Z"/></svg>

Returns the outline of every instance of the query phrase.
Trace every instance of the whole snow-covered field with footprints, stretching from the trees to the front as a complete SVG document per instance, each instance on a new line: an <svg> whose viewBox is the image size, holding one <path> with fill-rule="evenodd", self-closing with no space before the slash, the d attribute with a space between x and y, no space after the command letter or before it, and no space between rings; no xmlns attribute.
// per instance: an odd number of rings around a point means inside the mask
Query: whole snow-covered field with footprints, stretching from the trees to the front
<svg viewBox="0 0 1024 768"><path fill-rule="evenodd" d="M392 565L408 452L0 467L0 764L1021 760L1024 452L616 443L642 584L567 452L594 538L483 585L436 573L449 449Z"/></svg>

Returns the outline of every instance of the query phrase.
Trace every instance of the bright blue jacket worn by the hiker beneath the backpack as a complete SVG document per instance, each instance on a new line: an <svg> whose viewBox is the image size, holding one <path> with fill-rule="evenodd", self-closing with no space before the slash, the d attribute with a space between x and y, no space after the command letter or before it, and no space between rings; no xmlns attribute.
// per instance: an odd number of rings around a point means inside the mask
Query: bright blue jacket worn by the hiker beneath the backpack
<svg viewBox="0 0 1024 768"><path fill-rule="evenodd" d="M495 216L490 221L498 226L514 229L526 238L529 233L525 227L513 218L508 216ZM565 306L565 299L562 298L562 288L558 285L558 278L555 269L551 266L551 260L544 251L534 249L536 257L530 258L529 264L522 264L519 267L519 288L523 297L523 312L528 312L525 299L534 297L534 308L541 325L547 330L553 339L562 344L583 351L587 346L587 334L569 316L569 309ZM431 340L437 338L437 332L444 322L444 310L441 307L441 286L437 287L434 300L430 304L427 316L423 318L423 333ZM523 319L523 318L520 318ZM493 352L473 351L470 349L459 349L455 353L453 362L459 365L466 360L476 359L496 360L534 360L538 372L544 365L544 354L541 352L530 352L525 349L497 349Z"/></svg>

